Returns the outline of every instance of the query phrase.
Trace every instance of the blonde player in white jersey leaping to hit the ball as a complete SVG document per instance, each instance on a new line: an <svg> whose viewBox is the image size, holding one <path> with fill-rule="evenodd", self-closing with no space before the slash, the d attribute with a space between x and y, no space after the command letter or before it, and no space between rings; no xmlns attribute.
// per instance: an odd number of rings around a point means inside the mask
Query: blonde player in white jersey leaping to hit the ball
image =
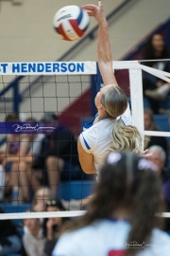
<svg viewBox="0 0 170 256"><path fill-rule="evenodd" d="M97 55L105 84L94 100L98 113L91 123L85 125L86 130L78 138L81 167L86 174L95 174L110 151L130 150L141 154L142 137L133 126L127 96L118 86L112 71L110 36L103 9L94 5L82 8L99 25Z"/></svg>

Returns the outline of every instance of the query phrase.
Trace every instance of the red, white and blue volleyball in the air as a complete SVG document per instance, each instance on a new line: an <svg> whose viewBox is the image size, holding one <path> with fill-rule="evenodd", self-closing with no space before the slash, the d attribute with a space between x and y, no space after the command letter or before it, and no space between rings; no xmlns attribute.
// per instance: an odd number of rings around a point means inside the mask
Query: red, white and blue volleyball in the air
<svg viewBox="0 0 170 256"><path fill-rule="evenodd" d="M75 41L84 35L89 23L89 15L85 9L66 6L56 12L53 27L61 39Z"/></svg>

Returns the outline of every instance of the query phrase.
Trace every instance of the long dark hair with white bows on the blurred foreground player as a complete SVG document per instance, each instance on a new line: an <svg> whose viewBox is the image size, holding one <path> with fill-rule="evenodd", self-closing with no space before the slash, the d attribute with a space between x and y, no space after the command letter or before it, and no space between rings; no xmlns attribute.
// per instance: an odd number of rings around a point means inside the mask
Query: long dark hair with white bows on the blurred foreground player
<svg viewBox="0 0 170 256"><path fill-rule="evenodd" d="M67 230L106 218L126 219L131 225L127 242L149 242L152 229L158 225L155 212L162 210L161 181L156 170L152 162L139 155L111 152L100 170L87 213L70 223ZM134 253L133 248L127 249L127 255Z"/></svg>

